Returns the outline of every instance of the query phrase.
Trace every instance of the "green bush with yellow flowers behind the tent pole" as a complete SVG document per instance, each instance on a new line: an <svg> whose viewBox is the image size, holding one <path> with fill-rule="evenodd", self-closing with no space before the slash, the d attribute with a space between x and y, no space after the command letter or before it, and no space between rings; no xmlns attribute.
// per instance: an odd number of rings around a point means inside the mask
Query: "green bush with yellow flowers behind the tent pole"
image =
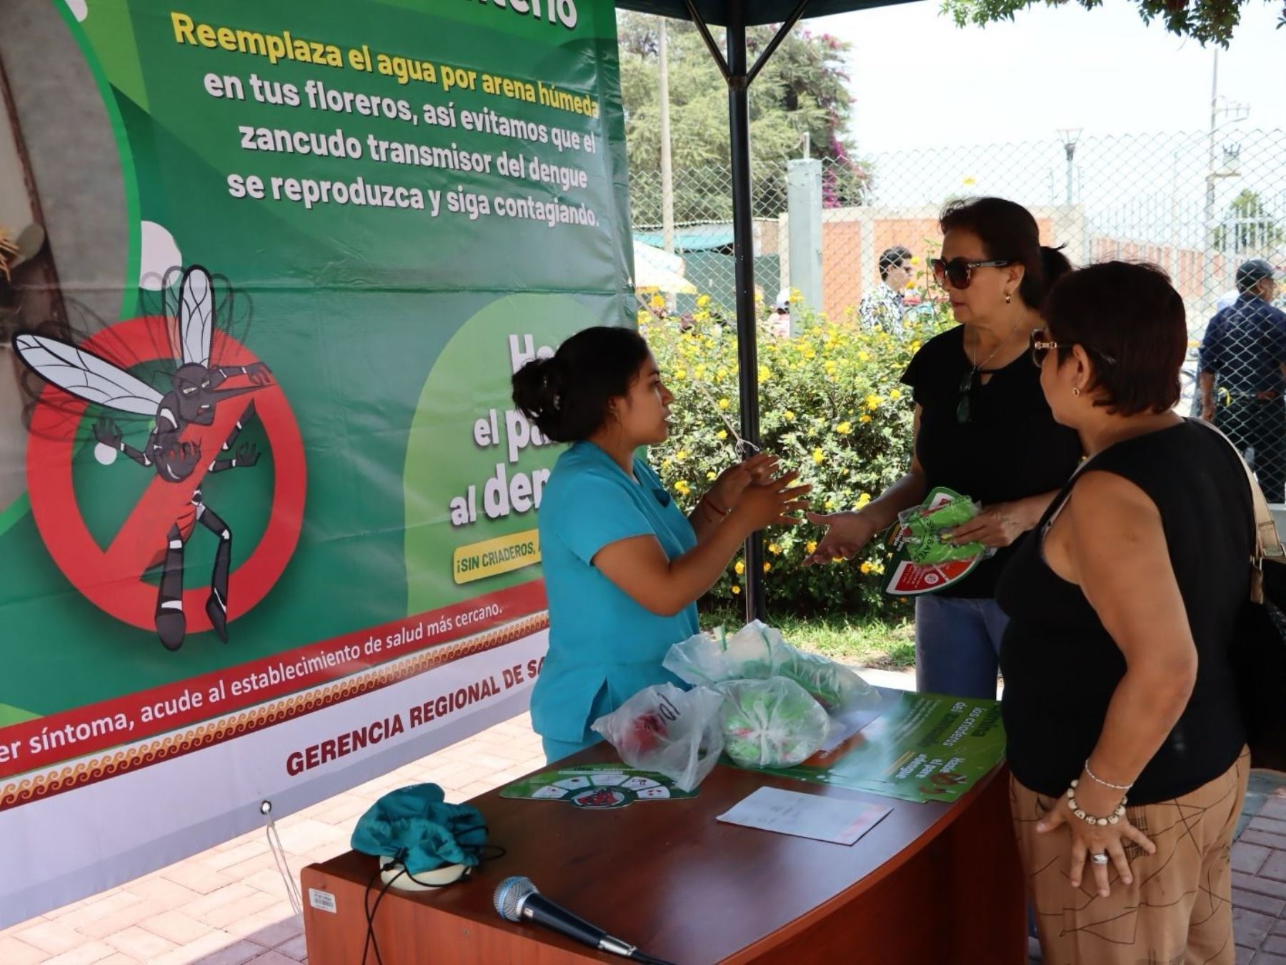
<svg viewBox="0 0 1286 965"><path fill-rule="evenodd" d="M657 317L658 308L653 302L653 311L642 311L639 326L675 402L670 438L651 457L679 505L691 510L710 481L737 457L737 335L733 326L714 320L705 297L682 323ZM851 317L836 323L806 310L795 316L795 338L774 338L760 325L761 445L786 466L801 470L813 484L817 511L858 509L909 465L914 406L899 379L921 343L941 330L945 312L935 303L931 314L909 321L900 335L862 329ZM806 568L802 560L818 538L818 528L809 524L764 535L764 586L774 612L905 612L904 601L882 592L887 563L882 545L872 544L849 564ZM745 562L738 558L705 605L737 603L745 578Z"/></svg>

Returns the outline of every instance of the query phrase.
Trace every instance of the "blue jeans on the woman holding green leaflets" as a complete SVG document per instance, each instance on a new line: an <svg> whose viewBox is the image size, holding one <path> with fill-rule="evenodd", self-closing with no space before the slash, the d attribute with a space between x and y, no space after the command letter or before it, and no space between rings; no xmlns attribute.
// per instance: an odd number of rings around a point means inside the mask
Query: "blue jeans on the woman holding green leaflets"
<svg viewBox="0 0 1286 965"><path fill-rule="evenodd" d="M995 600L917 598L916 690L994 700L1008 623Z"/></svg>

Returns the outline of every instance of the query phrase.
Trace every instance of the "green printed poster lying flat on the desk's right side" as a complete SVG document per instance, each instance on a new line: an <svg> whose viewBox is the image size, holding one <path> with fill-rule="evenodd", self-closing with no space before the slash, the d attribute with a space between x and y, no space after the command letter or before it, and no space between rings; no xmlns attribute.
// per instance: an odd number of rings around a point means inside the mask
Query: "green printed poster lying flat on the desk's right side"
<svg viewBox="0 0 1286 965"><path fill-rule="evenodd" d="M957 801L1004 756L998 702L882 694L891 704L853 738L773 774L900 801Z"/></svg>

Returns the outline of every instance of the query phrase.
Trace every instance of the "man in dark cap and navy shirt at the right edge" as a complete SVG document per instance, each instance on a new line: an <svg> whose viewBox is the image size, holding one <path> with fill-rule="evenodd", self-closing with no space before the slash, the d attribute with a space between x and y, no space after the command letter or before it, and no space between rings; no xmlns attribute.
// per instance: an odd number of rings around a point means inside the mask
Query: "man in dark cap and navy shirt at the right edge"
<svg viewBox="0 0 1286 965"><path fill-rule="evenodd" d="M1210 319L1201 342L1201 418L1242 454L1269 502L1286 500L1286 312L1272 306L1276 271L1263 258L1237 269L1237 301Z"/></svg>

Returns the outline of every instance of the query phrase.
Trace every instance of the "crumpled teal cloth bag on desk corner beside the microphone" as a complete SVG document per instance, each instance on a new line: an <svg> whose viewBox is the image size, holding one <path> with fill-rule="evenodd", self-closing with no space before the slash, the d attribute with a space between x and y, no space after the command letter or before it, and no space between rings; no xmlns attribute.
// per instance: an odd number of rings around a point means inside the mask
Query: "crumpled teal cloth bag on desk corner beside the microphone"
<svg viewBox="0 0 1286 965"><path fill-rule="evenodd" d="M379 858L386 876L394 872L440 887L482 861L486 820L472 804L448 804L436 784L413 784L372 804L352 829L350 844Z"/></svg>

